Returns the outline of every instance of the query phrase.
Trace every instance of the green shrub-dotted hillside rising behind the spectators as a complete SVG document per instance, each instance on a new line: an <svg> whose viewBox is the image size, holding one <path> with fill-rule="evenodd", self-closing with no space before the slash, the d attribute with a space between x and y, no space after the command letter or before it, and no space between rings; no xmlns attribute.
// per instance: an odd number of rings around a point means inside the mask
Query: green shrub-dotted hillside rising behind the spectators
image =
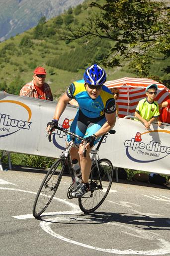
<svg viewBox="0 0 170 256"><path fill-rule="evenodd" d="M1 42L0 90L19 94L20 88L32 80L35 67L43 66L48 73L46 82L51 86L54 97L58 98L73 81L82 79L88 65L100 63L113 46L110 40L95 39L96 47L93 49L86 40L78 44L77 41L60 39L68 26L85 27L85 21L93 15L88 7L90 2L87 0L73 9L69 8L62 15L48 21L44 16L36 27ZM168 79L163 71L168 62L169 59L155 62L151 66L153 77L158 80ZM122 67L106 69L108 80L137 77L128 64L122 60Z"/></svg>

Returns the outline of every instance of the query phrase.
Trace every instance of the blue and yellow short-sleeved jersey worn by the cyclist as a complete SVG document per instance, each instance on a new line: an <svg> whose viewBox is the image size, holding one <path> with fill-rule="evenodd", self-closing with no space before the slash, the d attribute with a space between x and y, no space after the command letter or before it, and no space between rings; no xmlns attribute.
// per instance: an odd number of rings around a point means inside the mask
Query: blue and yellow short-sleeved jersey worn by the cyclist
<svg viewBox="0 0 170 256"><path fill-rule="evenodd" d="M92 99L85 89L85 81L76 81L67 89L67 95L78 101L81 111L89 118L96 118L104 113L111 114L116 111L113 94L105 85L102 86L100 95L96 99Z"/></svg>

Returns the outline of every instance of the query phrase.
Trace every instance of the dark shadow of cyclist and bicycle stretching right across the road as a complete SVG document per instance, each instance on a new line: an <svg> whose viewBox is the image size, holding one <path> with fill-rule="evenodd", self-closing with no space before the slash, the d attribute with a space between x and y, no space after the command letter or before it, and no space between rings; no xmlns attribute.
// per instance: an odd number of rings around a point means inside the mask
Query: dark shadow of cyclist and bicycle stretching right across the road
<svg viewBox="0 0 170 256"><path fill-rule="evenodd" d="M53 216L53 217L52 217ZM60 218L66 216L67 221L60 221ZM44 218L52 217L52 220ZM58 219L59 218L59 219ZM69 219L68 219L69 218ZM44 215L38 218L41 221L50 223L70 224L70 225L96 225L103 223L119 223L130 224L143 230L169 230L170 231L170 219L169 218L157 218L149 217L140 214L127 214L127 213L112 213L112 212L94 212L88 215L84 213L78 215Z"/></svg>

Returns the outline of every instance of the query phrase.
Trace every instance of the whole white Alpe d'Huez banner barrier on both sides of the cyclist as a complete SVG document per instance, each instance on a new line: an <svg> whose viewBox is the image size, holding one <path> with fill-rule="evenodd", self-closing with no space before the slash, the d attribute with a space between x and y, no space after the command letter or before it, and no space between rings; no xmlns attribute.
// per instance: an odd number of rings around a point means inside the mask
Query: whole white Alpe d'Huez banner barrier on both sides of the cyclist
<svg viewBox="0 0 170 256"><path fill-rule="evenodd" d="M53 119L56 102L0 92L0 149L38 156L58 157L65 149L66 135L55 131L46 138L46 124ZM60 126L69 128L77 108L68 105ZM170 174L170 126L151 126L119 118L116 134L107 135L99 150L115 167Z"/></svg>

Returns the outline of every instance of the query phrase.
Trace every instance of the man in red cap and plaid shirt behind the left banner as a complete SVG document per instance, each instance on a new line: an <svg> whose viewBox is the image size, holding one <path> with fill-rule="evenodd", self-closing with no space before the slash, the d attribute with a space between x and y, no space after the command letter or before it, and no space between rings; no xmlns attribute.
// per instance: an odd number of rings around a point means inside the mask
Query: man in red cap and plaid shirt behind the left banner
<svg viewBox="0 0 170 256"><path fill-rule="evenodd" d="M53 101L50 86L45 83L46 74L44 68L37 67L34 70L33 80L21 88L19 95Z"/></svg>

